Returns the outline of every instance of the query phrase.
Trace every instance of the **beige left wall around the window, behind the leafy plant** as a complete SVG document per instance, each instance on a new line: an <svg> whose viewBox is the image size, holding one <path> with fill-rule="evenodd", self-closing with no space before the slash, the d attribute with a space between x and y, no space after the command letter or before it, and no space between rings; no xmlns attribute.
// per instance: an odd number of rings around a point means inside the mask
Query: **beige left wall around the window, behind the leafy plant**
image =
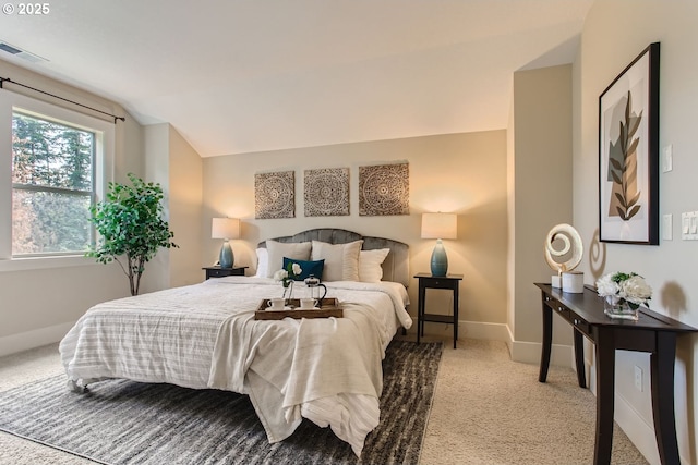
<svg viewBox="0 0 698 465"><path fill-rule="evenodd" d="M113 102L3 61L0 61L0 75L103 111L125 114ZM7 85L8 89L11 87L14 89L16 86ZM17 91L79 110L40 94L22 91L21 88ZM122 181L127 172L142 171L141 126L129 114L125 117L125 123L119 121L116 125L115 167L112 173L107 173L108 180L113 176ZM99 265L88 258L79 261L82 265L26 266L23 270L3 267L4 271L0 271L0 354L58 341L92 305L129 294L128 279L117 265Z"/></svg>

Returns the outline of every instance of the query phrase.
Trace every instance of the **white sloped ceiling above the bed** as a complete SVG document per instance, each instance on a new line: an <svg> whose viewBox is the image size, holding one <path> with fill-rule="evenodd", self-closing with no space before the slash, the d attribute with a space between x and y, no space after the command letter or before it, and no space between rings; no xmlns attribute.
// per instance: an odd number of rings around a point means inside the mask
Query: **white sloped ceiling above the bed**
<svg viewBox="0 0 698 465"><path fill-rule="evenodd" d="M592 0L61 0L0 59L169 122L203 157L506 127L513 73L569 63ZM12 77L12 76L2 76Z"/></svg>

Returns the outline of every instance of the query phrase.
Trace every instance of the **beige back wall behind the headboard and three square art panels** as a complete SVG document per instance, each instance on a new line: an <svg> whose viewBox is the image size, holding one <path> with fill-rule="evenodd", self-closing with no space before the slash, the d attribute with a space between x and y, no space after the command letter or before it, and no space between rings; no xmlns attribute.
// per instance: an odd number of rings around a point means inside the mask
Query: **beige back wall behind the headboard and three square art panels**
<svg viewBox="0 0 698 465"><path fill-rule="evenodd" d="M360 217L359 167L396 161L409 162L410 215ZM342 167L350 169L350 216L304 217L303 170ZM285 170L296 172L296 218L255 220L254 174ZM220 241L209 238L210 219L230 216L242 219L242 238L232 243L236 265L252 268L255 267L254 249L258 241L329 227L406 242L410 245L410 272L429 271L434 241L420 238L420 213L457 212L458 238L445 241L445 246L449 272L466 277L461 285L461 330L504 330L507 249L505 131L207 158L204 159L203 198L202 265L215 261L220 247ZM414 304L416 287L413 281L410 296ZM449 305L442 304L438 296L435 298L438 303L434 305L440 309ZM416 313L416 305L412 305L412 313ZM472 327L468 321L498 327ZM431 330L450 333L450 327L434 326Z"/></svg>

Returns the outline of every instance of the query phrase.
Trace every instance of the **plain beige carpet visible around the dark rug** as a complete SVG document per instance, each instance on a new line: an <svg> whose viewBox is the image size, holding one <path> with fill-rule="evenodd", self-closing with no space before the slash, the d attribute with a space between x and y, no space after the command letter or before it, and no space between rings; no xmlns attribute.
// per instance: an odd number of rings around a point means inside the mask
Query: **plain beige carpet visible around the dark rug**
<svg viewBox="0 0 698 465"><path fill-rule="evenodd" d="M589 464L593 458L595 397L577 387L569 368L509 360L501 342L445 345L421 464ZM61 372L56 344L0 358L0 391ZM0 464L91 464L0 432ZM613 464L647 464L616 428Z"/></svg>

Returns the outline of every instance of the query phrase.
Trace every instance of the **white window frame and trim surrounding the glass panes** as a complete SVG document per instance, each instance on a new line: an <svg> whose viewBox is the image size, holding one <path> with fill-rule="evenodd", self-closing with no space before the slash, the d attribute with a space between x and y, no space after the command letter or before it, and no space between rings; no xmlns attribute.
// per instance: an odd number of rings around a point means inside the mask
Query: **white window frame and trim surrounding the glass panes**
<svg viewBox="0 0 698 465"><path fill-rule="evenodd" d="M41 100L0 90L0 271L60 268L95 264L94 258L75 255L12 256L12 113L21 111L38 118L65 122L95 133L95 201L104 198L113 180L115 125Z"/></svg>

